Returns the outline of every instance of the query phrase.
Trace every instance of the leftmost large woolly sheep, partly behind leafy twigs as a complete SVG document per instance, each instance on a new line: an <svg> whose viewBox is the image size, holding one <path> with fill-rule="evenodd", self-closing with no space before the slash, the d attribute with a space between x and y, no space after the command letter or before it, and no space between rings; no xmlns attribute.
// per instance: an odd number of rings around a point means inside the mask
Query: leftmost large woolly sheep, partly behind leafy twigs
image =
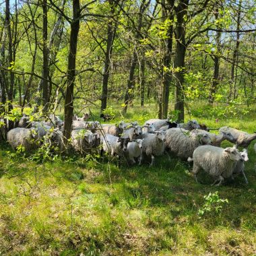
<svg viewBox="0 0 256 256"><path fill-rule="evenodd" d="M36 129L17 127L7 132L7 141L13 150L23 146L25 151L34 150L38 147L38 134Z"/></svg>

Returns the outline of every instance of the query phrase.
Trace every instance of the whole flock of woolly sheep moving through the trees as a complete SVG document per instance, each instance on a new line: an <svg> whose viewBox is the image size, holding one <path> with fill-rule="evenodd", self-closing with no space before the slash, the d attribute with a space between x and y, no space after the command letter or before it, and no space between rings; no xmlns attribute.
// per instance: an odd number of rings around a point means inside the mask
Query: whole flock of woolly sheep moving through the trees
<svg viewBox="0 0 256 256"><path fill-rule="evenodd" d="M231 127L221 127L219 134L210 133L205 125L192 120L187 123L174 123L168 119L150 119L141 127L137 122L117 125L88 121L86 114L82 118L74 117L71 132L71 147L81 153L92 153L101 148L103 152L118 158L125 158L129 164L140 165L143 160L170 153L193 162L192 173L197 181L197 173L204 170L214 177L214 184L220 185L224 179L234 174L243 174L245 182L245 161L249 160L247 147L256 139L256 133L249 134ZM7 132L7 141L13 150L22 146L29 151L40 147L42 143L60 151L65 150L63 143L63 121L51 115L49 121L30 122L22 117L18 127ZM224 139L235 143L233 148L220 148ZM255 144L256 145L256 144ZM100 146L100 147L99 147ZM245 148L238 151L238 146ZM256 146L255 146L256 148Z"/></svg>

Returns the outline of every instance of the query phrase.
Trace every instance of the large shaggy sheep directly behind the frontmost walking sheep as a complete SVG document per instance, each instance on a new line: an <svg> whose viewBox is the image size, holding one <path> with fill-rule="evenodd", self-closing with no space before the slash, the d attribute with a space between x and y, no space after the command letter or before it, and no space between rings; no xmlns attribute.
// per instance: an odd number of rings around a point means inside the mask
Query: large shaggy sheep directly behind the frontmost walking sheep
<svg viewBox="0 0 256 256"><path fill-rule="evenodd" d="M193 135L181 128L172 128L166 131L166 150L170 150L186 160L193 155L195 148L210 143L211 139L206 131Z"/></svg>

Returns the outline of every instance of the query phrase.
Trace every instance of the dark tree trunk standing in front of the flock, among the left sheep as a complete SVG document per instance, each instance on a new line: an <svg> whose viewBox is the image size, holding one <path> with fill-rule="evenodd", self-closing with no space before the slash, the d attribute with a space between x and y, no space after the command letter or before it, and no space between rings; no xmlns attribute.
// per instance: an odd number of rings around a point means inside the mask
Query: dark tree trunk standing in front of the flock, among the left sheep
<svg viewBox="0 0 256 256"><path fill-rule="evenodd" d="M77 38L79 32L80 4L79 0L73 0L73 19L71 21L71 32L69 39L69 58L67 64L67 90L65 94L64 107L64 141L71 136L73 121L73 90L75 84L75 57L77 53Z"/></svg>

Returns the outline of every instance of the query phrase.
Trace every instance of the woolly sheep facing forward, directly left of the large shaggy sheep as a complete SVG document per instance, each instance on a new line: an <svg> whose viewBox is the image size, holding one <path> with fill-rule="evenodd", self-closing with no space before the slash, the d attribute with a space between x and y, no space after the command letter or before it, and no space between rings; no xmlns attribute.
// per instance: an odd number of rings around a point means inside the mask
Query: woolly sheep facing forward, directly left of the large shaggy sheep
<svg viewBox="0 0 256 256"><path fill-rule="evenodd" d="M142 152L147 156L151 156L150 166L152 166L154 164L155 156L161 156L164 153L166 133L165 131L143 133L142 138Z"/></svg>

